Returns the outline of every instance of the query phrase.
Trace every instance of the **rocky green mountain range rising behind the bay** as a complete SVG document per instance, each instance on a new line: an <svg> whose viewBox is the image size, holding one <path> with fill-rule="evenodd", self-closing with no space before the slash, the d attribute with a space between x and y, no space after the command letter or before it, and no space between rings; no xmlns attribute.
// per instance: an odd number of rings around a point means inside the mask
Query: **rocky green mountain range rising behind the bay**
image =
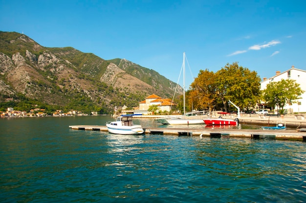
<svg viewBox="0 0 306 203"><path fill-rule="evenodd" d="M26 108L31 104L112 113L114 106L138 106L151 94L172 99L175 87L156 71L125 59L44 47L26 35L0 31L2 107L5 99L14 98L19 108L23 102ZM182 91L179 87L178 94Z"/></svg>

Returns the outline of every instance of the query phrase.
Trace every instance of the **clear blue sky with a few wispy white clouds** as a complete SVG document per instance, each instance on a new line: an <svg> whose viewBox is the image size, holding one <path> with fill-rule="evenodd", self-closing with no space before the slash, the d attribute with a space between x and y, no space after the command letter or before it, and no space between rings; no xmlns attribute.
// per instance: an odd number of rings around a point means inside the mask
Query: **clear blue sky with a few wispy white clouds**
<svg viewBox="0 0 306 203"><path fill-rule="evenodd" d="M185 52L186 88L200 69L236 61L261 78L306 70L305 0L0 0L0 31L127 59L174 82Z"/></svg>

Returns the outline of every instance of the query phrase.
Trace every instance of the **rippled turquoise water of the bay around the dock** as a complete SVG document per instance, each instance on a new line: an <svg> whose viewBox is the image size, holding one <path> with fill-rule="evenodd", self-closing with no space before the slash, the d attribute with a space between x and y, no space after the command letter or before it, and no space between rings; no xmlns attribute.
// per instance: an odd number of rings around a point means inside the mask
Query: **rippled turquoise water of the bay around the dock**
<svg viewBox="0 0 306 203"><path fill-rule="evenodd" d="M0 119L0 202L306 202L306 142L68 127L111 120Z"/></svg>

